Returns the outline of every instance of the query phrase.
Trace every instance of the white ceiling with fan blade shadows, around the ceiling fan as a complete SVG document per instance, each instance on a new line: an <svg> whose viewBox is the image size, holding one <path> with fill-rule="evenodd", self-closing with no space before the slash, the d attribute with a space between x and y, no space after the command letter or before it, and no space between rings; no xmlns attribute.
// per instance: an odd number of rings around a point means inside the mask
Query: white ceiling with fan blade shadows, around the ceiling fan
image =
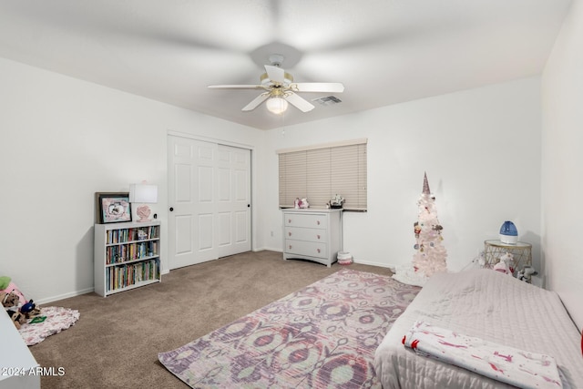
<svg viewBox="0 0 583 389"><path fill-rule="evenodd" d="M14 0L0 56L254 128L540 74L571 0ZM342 103L241 112L268 56ZM0 89L1 90L1 89ZM330 94L302 94L312 100Z"/></svg>

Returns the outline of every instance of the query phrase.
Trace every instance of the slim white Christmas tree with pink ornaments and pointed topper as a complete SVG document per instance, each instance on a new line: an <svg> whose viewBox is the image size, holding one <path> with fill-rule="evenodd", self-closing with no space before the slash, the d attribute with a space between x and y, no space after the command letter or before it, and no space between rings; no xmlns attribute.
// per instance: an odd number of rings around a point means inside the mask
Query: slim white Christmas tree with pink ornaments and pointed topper
<svg viewBox="0 0 583 389"><path fill-rule="evenodd" d="M435 197L429 190L427 174L424 175L423 193L417 201L419 206L419 218L414 223L415 253L413 257L414 271L430 277L436 271L446 271L447 251L442 244L444 238L441 235L443 227L437 219Z"/></svg>

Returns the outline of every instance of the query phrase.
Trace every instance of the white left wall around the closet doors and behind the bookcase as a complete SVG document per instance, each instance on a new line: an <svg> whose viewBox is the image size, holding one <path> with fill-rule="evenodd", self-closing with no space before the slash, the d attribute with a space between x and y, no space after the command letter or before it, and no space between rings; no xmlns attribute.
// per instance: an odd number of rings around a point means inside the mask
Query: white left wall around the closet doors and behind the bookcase
<svg viewBox="0 0 583 389"><path fill-rule="evenodd" d="M93 289L97 191L128 191L142 179L158 184L151 208L166 238L169 130L250 145L253 165L262 164L258 129L1 58L0 85L0 275L36 302ZM262 202L261 191L253 193ZM253 236L262 237L261 223L254 226Z"/></svg>

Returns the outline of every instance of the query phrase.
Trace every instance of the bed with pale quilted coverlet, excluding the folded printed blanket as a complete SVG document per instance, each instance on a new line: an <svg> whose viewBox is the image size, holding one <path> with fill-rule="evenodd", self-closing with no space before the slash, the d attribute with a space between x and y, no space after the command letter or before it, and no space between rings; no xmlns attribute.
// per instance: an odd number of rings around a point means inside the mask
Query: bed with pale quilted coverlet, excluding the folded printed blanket
<svg viewBox="0 0 583 389"><path fill-rule="evenodd" d="M405 347L404 335L416 322L552 356L562 387L583 388L581 333L555 292L486 269L436 273L374 355L384 389L513 387Z"/></svg>

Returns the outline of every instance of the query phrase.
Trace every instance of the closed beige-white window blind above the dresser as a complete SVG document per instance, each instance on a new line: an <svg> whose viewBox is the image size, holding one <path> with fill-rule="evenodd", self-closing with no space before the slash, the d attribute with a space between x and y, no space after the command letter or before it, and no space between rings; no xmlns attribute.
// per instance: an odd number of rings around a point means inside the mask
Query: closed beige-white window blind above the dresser
<svg viewBox="0 0 583 389"><path fill-rule="evenodd" d="M279 150L280 207L297 198L325 207L336 194L344 210L366 210L366 139Z"/></svg>

